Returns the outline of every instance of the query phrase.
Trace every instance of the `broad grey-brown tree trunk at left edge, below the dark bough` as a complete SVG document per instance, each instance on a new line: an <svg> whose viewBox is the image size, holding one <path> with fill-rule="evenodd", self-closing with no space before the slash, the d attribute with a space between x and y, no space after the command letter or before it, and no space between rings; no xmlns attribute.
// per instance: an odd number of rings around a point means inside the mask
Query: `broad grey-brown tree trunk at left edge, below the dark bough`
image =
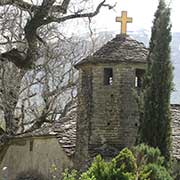
<svg viewBox="0 0 180 180"><path fill-rule="evenodd" d="M17 128L12 119L14 119L14 111L19 99L19 90L24 73L24 70L18 69L9 62L1 62L0 64L0 110L3 113L9 134L12 134Z"/></svg>

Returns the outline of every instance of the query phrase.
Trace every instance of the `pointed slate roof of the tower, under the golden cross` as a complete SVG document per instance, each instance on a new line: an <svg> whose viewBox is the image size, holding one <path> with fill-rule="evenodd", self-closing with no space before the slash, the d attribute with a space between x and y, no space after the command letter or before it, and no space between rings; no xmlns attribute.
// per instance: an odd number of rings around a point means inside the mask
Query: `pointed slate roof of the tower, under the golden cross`
<svg viewBox="0 0 180 180"><path fill-rule="evenodd" d="M78 62L75 67L97 63L146 63L147 55L148 49L143 43L129 36L117 35L92 56L88 56Z"/></svg>

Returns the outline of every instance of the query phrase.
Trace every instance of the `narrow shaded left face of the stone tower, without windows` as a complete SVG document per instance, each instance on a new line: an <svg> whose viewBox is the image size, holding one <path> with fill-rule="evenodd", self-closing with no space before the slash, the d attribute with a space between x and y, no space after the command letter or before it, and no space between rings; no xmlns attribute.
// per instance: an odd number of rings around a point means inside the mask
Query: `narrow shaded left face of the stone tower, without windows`
<svg viewBox="0 0 180 180"><path fill-rule="evenodd" d="M86 169L88 163L88 144L91 132L92 116L92 67L87 66L79 72L78 87L78 117L77 117L77 136L75 152L75 168Z"/></svg>

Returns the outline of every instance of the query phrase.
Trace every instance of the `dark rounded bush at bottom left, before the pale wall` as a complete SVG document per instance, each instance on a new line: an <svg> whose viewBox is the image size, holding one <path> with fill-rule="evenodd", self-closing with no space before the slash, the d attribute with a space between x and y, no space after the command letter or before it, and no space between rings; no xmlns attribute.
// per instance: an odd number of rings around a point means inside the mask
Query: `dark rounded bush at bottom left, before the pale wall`
<svg viewBox="0 0 180 180"><path fill-rule="evenodd" d="M17 175L15 180L47 180L41 173L35 170L23 171Z"/></svg>

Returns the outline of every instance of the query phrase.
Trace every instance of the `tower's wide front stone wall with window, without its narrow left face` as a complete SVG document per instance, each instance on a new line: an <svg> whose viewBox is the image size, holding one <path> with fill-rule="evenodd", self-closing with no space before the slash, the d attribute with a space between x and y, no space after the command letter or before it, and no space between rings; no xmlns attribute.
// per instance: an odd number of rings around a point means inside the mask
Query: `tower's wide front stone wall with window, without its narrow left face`
<svg viewBox="0 0 180 180"><path fill-rule="evenodd" d="M104 68L113 69L112 85L104 85ZM135 69L143 65L107 64L93 67L93 98L89 150L112 157L134 144L138 109L133 94Z"/></svg>

